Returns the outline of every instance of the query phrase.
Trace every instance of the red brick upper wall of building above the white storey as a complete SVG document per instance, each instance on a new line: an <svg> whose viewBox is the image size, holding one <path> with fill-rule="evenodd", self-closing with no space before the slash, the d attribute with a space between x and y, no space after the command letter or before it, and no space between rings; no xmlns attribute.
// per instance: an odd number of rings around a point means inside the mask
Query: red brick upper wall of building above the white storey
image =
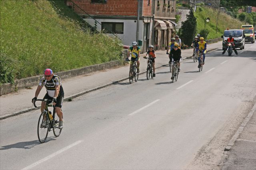
<svg viewBox="0 0 256 170"><path fill-rule="evenodd" d="M144 3L148 2L144 1ZM107 0L105 4L91 3L91 0L73 0L73 2L90 15L137 16L138 0ZM67 5L72 6L72 3L67 0ZM74 10L77 14L84 14L78 8Z"/></svg>

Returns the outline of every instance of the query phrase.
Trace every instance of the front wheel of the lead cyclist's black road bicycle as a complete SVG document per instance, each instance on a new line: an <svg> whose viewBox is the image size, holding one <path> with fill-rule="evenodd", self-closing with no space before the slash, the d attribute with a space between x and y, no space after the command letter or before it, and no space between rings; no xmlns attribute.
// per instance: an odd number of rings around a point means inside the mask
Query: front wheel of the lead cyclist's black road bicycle
<svg viewBox="0 0 256 170"><path fill-rule="evenodd" d="M47 117L47 112L43 111L39 117L37 125L37 136L40 143L44 143L48 136L48 129L50 128L49 119Z"/></svg>

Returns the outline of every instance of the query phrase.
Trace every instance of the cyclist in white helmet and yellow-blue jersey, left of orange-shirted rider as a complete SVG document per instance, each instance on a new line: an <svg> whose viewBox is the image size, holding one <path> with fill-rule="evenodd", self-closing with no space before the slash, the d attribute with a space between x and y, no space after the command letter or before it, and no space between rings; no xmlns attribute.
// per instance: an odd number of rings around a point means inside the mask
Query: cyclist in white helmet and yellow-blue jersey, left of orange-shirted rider
<svg viewBox="0 0 256 170"><path fill-rule="evenodd" d="M129 61L128 57L130 56L130 53L132 54L131 60L138 59L137 61L137 72L140 72L140 47L138 47L137 42L132 42L132 47L128 49L127 58L126 61ZM130 68L132 67L132 62L130 62Z"/></svg>

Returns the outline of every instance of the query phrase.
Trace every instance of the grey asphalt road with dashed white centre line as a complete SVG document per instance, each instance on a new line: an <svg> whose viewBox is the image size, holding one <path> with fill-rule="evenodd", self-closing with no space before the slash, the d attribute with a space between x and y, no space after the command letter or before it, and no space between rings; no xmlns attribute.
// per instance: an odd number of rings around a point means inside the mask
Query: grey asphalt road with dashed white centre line
<svg viewBox="0 0 256 170"><path fill-rule="evenodd" d="M207 54L202 72L184 61L174 83L162 67L154 79L141 75L65 102L64 129L44 144L38 111L1 120L0 169L187 168L256 96L256 44L221 52Z"/></svg>

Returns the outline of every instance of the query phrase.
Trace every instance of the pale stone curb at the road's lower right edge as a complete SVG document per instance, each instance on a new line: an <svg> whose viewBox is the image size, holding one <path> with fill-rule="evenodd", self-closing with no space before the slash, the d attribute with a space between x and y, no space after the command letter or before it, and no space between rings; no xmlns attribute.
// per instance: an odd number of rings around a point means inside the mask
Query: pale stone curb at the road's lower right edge
<svg viewBox="0 0 256 170"><path fill-rule="evenodd" d="M244 127L247 125L247 123L250 121L254 111L256 111L256 103L252 107L250 113L246 116L243 123L240 125L240 127L237 129L236 133L233 135L233 137L230 139L228 145L225 147L224 151L229 151L232 146L235 145L235 141L238 139L239 135L244 130Z"/></svg>

